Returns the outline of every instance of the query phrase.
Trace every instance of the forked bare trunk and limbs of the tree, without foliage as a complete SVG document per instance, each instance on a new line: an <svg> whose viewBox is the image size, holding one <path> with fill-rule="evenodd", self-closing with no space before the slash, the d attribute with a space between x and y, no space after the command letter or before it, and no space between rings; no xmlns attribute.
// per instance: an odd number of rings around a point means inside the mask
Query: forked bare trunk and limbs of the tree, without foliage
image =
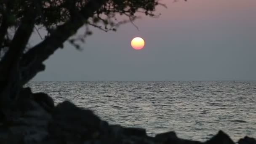
<svg viewBox="0 0 256 144"><path fill-rule="evenodd" d="M32 35L36 19L42 14L39 4L35 2L35 5L28 6L27 13L22 17L9 43L6 43L8 41L6 36L8 29L12 27L8 25L8 16L11 15L11 11L8 10L8 5L5 9L0 7L0 14L3 17L0 23L0 52L3 48L8 48L8 51L0 59L0 119L2 117L2 120L3 118L6 120L12 115L12 109L15 108L17 99L20 99L20 91L24 89L23 86L38 72L45 69L43 61L62 47L63 43L74 35L85 21L106 2L107 0L89 1L79 11L73 12L70 19L64 24L53 29L41 43L29 48L26 53L24 50Z"/></svg>

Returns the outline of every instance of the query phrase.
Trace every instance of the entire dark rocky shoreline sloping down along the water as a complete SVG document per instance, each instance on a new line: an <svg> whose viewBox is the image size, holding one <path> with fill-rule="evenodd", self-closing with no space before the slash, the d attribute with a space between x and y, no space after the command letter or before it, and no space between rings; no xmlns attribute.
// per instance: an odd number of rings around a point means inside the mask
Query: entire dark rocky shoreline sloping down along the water
<svg viewBox="0 0 256 144"><path fill-rule="evenodd" d="M5 119L0 121L0 144L235 144L223 131L207 141L181 139L173 131L147 136L143 128L109 125L91 110L69 101L54 106L45 93L24 88ZM238 144L256 144L245 136Z"/></svg>

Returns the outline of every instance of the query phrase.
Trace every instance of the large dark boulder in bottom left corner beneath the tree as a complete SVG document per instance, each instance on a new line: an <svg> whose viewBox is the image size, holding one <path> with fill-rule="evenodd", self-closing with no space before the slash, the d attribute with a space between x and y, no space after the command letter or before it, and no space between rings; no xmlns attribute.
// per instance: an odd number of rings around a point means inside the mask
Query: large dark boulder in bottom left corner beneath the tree
<svg viewBox="0 0 256 144"><path fill-rule="evenodd" d="M5 141L8 144L40 143L48 136L48 124L52 116L32 99L20 98L18 102L12 119L1 126L7 133Z"/></svg>

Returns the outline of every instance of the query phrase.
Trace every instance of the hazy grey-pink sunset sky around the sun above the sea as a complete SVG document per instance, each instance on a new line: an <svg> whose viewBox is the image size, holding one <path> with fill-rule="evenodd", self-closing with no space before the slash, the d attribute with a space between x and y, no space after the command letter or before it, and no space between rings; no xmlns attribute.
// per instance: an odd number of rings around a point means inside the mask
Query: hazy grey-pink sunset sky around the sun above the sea
<svg viewBox="0 0 256 144"><path fill-rule="evenodd" d="M134 22L139 31L131 23L117 32L91 28L82 51L65 43L33 80L256 80L256 0L161 3L168 8L157 7L159 18ZM137 36L140 51L130 45Z"/></svg>

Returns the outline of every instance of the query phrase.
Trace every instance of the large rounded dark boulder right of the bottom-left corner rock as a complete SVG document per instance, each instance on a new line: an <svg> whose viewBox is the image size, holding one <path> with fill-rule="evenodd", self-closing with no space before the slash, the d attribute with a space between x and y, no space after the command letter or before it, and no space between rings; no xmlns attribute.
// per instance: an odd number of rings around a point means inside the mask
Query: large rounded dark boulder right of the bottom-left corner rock
<svg viewBox="0 0 256 144"><path fill-rule="evenodd" d="M85 141L99 137L101 122L91 110L64 101L53 109L53 122L48 129L52 136L63 141Z"/></svg>

